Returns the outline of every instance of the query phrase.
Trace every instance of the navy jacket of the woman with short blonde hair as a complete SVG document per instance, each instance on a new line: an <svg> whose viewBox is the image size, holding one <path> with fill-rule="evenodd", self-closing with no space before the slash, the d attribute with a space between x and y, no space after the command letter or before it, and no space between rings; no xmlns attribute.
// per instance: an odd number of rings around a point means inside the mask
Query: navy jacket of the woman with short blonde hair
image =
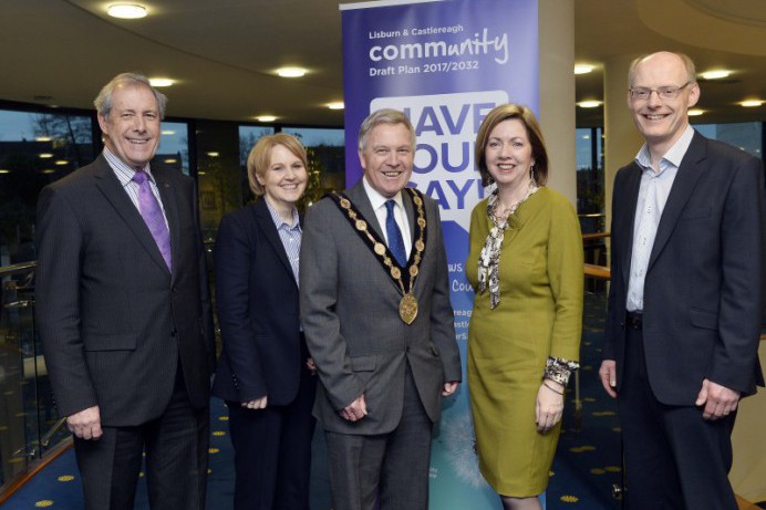
<svg viewBox="0 0 766 510"><path fill-rule="evenodd" d="M298 284L266 199L226 215L216 239L216 302L224 350L213 393L269 405L298 393Z"/></svg>

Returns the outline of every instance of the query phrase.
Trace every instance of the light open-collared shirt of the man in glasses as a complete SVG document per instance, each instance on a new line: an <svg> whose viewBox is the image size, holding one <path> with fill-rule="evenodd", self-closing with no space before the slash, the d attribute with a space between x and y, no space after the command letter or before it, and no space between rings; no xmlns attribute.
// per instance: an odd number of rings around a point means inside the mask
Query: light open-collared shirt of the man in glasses
<svg viewBox="0 0 766 510"><path fill-rule="evenodd" d="M686 154L693 137L694 129L692 126L686 126L681 138L660 159L659 171L655 171L652 167L652 157L646 145L641 147L641 150L635 156L635 163L641 167L642 174L639 200L635 205L633 251L631 253L628 299L625 300L625 308L630 312L643 311L644 281L656 230L673 187L675 175L679 173L679 166L681 166L681 160Z"/></svg>

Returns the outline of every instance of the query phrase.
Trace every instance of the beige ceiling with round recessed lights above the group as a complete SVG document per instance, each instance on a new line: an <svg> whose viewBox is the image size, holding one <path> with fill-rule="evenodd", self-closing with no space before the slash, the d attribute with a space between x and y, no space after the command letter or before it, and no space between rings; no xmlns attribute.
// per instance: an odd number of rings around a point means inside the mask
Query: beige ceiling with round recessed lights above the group
<svg viewBox="0 0 766 510"><path fill-rule="evenodd" d="M700 107L708 113L700 122L766 121L766 105L735 104L766 100L766 1L556 1L576 2L576 58L597 65L572 76L578 101L602 98L611 59L680 50L700 71L735 71L702 83ZM342 125L342 111L325 107L343 98L337 0L151 0L143 2L149 15L132 21L108 18L108 3L2 0L0 100L90 108L113 75L137 71L178 80L165 90L170 116L253 122L272 114L283 124ZM277 77L283 65L309 74ZM601 117L602 108L578 108L580 125Z"/></svg>

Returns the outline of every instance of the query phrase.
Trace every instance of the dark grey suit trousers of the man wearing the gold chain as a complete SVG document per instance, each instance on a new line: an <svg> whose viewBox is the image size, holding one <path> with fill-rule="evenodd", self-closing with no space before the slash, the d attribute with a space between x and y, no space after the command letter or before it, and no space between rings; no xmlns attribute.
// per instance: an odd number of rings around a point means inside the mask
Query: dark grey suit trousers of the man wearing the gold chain
<svg viewBox="0 0 766 510"><path fill-rule="evenodd" d="M373 510L377 498L380 510L426 510L432 429L407 364L402 419L393 431L325 431L333 509Z"/></svg>

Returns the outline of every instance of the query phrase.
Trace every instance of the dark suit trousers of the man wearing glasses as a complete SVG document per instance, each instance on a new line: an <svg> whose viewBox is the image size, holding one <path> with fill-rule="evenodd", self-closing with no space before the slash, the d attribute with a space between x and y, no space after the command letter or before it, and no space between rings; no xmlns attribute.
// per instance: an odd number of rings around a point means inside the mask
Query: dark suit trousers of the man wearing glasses
<svg viewBox="0 0 766 510"><path fill-rule="evenodd" d="M642 332L630 327L623 372L618 403L627 510L736 510L727 478L734 414L710 421L702 408L658 402L646 377Z"/></svg>

